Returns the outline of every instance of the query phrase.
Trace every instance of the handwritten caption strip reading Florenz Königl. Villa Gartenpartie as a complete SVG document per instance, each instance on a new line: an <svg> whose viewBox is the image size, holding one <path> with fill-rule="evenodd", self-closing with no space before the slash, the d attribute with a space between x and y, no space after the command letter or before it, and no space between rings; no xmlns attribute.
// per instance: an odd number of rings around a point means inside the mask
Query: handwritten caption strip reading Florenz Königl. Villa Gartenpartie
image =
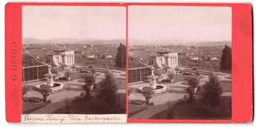
<svg viewBox="0 0 256 127"><path fill-rule="evenodd" d="M122 122L124 115L73 115L73 114L26 114L23 122Z"/></svg>

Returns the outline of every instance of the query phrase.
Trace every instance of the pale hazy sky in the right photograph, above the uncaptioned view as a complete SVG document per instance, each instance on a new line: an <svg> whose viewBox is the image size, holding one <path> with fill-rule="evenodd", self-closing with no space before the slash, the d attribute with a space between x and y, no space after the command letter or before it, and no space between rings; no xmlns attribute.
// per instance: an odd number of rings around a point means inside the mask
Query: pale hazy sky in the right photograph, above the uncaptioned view
<svg viewBox="0 0 256 127"><path fill-rule="evenodd" d="M141 40L231 40L229 7L129 6L128 37Z"/></svg>

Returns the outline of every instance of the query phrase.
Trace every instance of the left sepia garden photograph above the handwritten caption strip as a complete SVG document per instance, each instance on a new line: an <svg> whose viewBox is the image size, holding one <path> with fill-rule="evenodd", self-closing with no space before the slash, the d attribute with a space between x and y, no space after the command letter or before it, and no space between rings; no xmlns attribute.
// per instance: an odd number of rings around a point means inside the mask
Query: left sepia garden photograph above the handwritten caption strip
<svg viewBox="0 0 256 127"><path fill-rule="evenodd" d="M125 7L23 6L22 44L22 114L126 113Z"/></svg>

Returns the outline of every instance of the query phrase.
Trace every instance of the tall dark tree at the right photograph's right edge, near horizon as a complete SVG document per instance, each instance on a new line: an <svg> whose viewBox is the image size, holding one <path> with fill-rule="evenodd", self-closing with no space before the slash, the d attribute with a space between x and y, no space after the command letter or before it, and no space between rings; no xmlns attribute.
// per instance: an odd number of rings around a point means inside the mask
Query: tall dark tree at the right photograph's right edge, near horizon
<svg viewBox="0 0 256 127"><path fill-rule="evenodd" d="M231 70L232 67L232 52L231 47L225 45L222 50L220 66L222 70Z"/></svg>

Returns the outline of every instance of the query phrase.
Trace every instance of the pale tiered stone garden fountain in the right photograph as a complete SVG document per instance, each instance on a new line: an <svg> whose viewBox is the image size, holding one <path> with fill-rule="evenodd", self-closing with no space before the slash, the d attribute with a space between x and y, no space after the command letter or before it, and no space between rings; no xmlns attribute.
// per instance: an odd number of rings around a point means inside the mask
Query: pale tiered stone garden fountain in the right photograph
<svg viewBox="0 0 256 127"><path fill-rule="evenodd" d="M151 67L151 75L147 76L148 79L150 79L150 85L146 85L146 86L143 86L143 87L140 87L139 90L144 92L144 88L145 87L151 87L152 88L152 91L154 92L154 94L157 94L157 93L164 93L165 90L166 90L166 86L165 85L160 85L160 84L157 84L157 78L158 75L155 75L154 74L154 67L152 66Z"/></svg>

